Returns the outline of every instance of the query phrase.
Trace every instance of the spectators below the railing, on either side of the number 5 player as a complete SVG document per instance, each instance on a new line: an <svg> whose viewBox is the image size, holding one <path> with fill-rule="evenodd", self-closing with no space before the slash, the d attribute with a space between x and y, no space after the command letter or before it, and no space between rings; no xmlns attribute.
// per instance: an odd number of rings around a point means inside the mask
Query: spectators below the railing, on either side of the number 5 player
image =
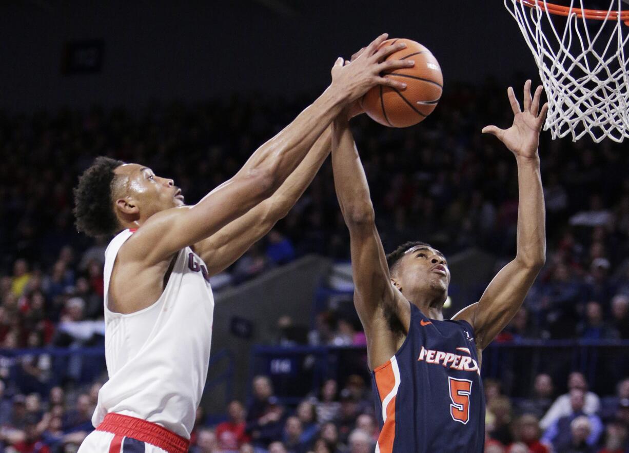
<svg viewBox="0 0 629 453"><path fill-rule="evenodd" d="M559 384L559 383L558 383ZM295 407L274 395L269 377L253 379L252 400L231 401L228 420L199 427L199 453L370 453L379 429L373 397L364 379L343 387L325 381ZM498 381L484 383L487 453L626 453L629 450L629 378L615 394L589 391L579 372L569 375L559 394L548 374L538 374L526 398L508 398Z"/></svg>

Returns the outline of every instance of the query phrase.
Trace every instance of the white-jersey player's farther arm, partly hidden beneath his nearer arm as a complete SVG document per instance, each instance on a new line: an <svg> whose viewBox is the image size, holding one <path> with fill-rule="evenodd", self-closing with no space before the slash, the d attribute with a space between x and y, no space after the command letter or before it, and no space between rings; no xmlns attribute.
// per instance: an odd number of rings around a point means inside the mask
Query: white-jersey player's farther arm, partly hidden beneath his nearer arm
<svg viewBox="0 0 629 453"><path fill-rule="evenodd" d="M331 128L328 127L273 196L194 245L210 275L229 267L289 213L330 154L330 142Z"/></svg>

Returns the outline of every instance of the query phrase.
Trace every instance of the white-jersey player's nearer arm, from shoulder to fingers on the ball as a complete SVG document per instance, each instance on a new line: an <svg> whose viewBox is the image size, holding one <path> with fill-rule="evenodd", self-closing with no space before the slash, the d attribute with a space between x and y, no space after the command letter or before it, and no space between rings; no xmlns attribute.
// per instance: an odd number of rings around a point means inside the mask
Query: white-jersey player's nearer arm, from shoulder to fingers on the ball
<svg viewBox="0 0 629 453"><path fill-rule="evenodd" d="M164 262L177 250L218 232L230 221L269 198L296 169L315 140L348 103L376 84L402 86L382 77L384 70L407 67L403 60L382 62L401 47L378 49L386 39L379 36L359 59L332 68L332 83L316 101L284 130L264 143L229 181L214 189L191 208L175 208L151 216L125 243L121 253L145 266Z"/></svg>

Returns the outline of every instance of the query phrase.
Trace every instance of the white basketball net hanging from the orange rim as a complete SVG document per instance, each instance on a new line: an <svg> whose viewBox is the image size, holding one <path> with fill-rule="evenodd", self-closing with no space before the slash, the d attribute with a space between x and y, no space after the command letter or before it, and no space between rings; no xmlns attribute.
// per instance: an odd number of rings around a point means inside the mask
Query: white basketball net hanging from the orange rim
<svg viewBox="0 0 629 453"><path fill-rule="evenodd" d="M571 0L562 17L546 0L504 0L540 70L548 98L544 129L552 138L571 134L576 141L588 134L594 142L605 137L622 142L629 138L624 52L629 26L620 14L623 2L611 0L602 20L587 19L583 3Z"/></svg>

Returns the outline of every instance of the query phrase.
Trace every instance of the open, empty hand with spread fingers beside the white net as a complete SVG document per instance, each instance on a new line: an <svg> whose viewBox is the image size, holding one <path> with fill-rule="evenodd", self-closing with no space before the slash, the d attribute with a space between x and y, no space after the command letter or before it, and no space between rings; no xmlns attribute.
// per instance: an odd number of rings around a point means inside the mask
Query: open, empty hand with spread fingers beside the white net
<svg viewBox="0 0 629 453"><path fill-rule="evenodd" d="M524 111L520 110L520 103L515 97L513 88L507 90L511 109L513 110L513 125L508 129L500 129L496 126L485 126L482 133L491 133L498 137L504 145L520 157L532 159L537 157L537 147L540 142L540 131L544 123L548 103L540 107L540 96L542 96L542 86L538 86L535 95L531 99L531 81L524 84Z"/></svg>

